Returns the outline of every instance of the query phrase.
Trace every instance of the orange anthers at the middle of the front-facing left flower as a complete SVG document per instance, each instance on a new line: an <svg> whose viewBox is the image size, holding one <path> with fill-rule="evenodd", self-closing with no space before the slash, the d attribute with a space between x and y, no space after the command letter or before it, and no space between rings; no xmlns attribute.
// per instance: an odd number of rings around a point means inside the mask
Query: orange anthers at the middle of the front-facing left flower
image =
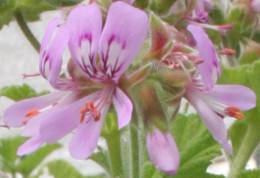
<svg viewBox="0 0 260 178"><path fill-rule="evenodd" d="M97 107L94 105L93 101L87 102L86 105L80 109L80 123L85 121L87 114L91 114L94 121L100 120L100 112L97 110Z"/></svg>

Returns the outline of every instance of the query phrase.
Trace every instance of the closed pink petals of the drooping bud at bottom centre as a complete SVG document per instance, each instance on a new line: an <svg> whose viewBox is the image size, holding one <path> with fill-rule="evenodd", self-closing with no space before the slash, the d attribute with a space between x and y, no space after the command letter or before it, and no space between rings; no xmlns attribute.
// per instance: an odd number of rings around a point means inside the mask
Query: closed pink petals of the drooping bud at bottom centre
<svg viewBox="0 0 260 178"><path fill-rule="evenodd" d="M151 161L158 169L175 175L179 167L180 157L175 140L170 133L162 133L155 129L153 133L148 133L146 146Z"/></svg>

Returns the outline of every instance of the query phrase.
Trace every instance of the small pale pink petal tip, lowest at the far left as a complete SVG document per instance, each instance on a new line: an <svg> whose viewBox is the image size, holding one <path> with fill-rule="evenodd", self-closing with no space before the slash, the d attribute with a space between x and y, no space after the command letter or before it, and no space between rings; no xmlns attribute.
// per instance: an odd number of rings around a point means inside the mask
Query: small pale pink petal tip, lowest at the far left
<svg viewBox="0 0 260 178"><path fill-rule="evenodd" d="M18 148L17 154L19 156L30 154L39 149L43 143L39 136L32 137Z"/></svg>

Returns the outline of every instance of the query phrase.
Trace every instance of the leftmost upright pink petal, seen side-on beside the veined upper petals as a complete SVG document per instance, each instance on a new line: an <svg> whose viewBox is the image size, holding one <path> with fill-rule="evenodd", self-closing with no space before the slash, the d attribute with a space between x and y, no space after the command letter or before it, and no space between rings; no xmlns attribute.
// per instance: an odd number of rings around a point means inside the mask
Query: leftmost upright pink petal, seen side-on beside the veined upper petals
<svg viewBox="0 0 260 178"><path fill-rule="evenodd" d="M60 78L62 55L69 40L68 29L62 23L58 17L50 21L40 49L40 72L54 88L71 87L68 80Z"/></svg>

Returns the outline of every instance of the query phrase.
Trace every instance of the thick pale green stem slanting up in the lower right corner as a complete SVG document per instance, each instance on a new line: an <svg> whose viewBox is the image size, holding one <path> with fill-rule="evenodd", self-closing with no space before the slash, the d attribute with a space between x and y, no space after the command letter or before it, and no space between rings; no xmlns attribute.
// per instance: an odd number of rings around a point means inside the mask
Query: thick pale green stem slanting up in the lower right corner
<svg viewBox="0 0 260 178"><path fill-rule="evenodd" d="M250 156L259 143L259 128L250 124L247 133L238 149L230 168L228 178L238 178L239 174L245 168Z"/></svg>

